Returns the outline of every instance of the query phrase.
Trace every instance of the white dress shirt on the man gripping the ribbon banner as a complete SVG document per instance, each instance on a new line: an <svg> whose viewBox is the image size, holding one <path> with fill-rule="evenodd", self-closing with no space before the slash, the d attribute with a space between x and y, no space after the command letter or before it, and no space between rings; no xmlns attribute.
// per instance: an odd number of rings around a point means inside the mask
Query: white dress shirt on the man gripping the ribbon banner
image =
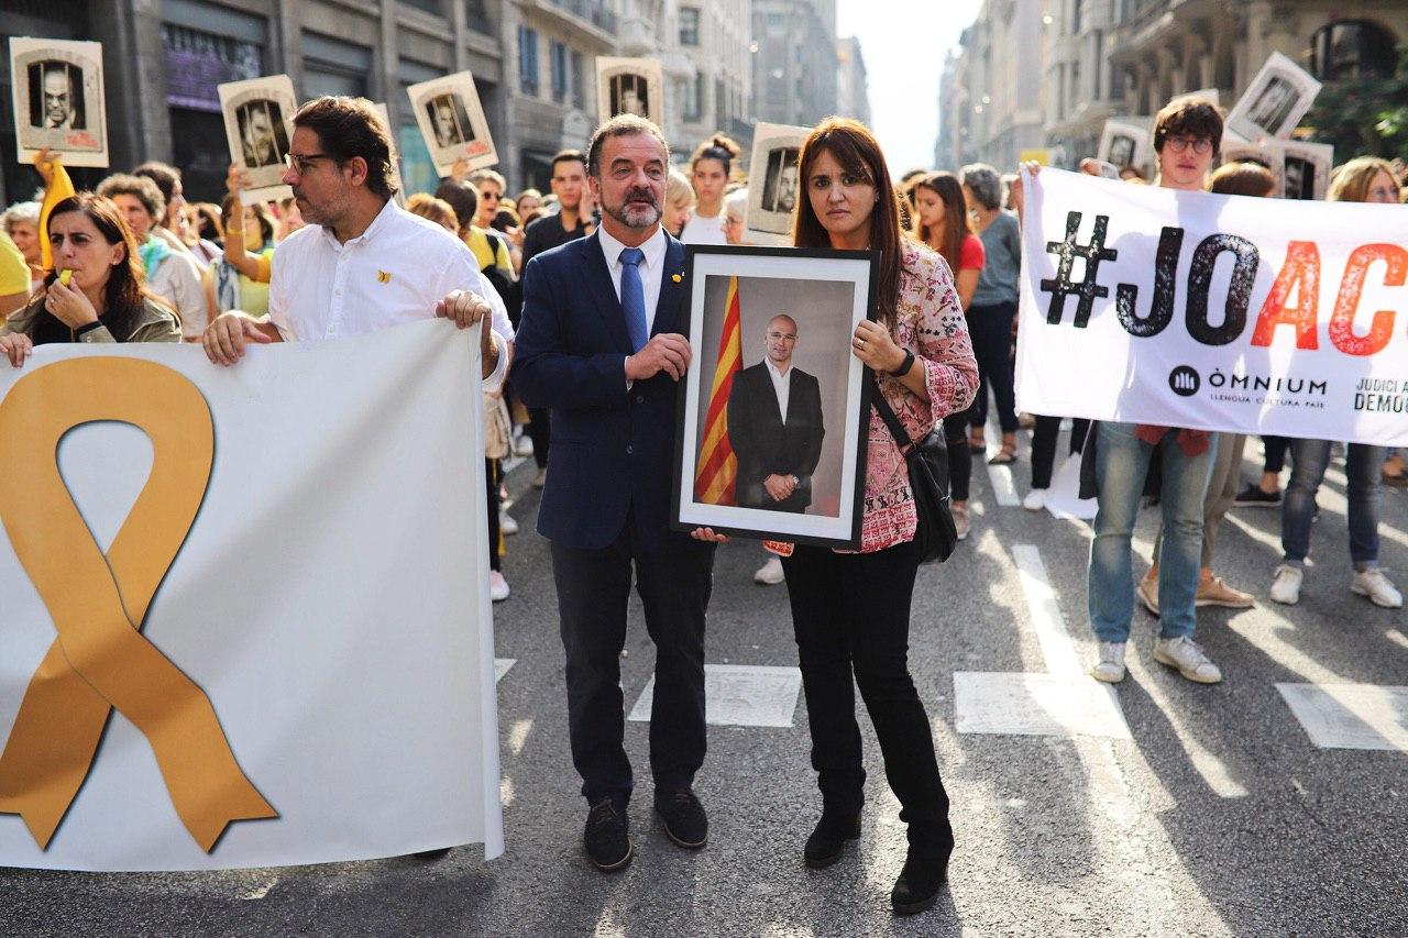
<svg viewBox="0 0 1408 938"><path fill-rule="evenodd" d="M282 241L269 282L269 321L284 341L363 335L432 318L435 304L453 290L473 290L493 308L498 365L484 384L497 387L514 337L503 299L480 276L465 242L393 200L346 244L322 225Z"/></svg>

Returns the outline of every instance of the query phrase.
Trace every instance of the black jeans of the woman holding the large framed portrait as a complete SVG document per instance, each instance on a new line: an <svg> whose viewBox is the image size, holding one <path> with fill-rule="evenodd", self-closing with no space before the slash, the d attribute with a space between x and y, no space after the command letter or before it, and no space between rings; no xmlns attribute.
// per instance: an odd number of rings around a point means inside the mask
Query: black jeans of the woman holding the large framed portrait
<svg viewBox="0 0 1408 938"><path fill-rule="evenodd" d="M783 558L801 662L811 765L826 808L865 800L855 686L880 738L884 772L910 825L910 849L948 856L949 796L934 755L934 732L910 677L910 597L919 566L912 541L874 554L797 545ZM855 684L852 684L855 673Z"/></svg>

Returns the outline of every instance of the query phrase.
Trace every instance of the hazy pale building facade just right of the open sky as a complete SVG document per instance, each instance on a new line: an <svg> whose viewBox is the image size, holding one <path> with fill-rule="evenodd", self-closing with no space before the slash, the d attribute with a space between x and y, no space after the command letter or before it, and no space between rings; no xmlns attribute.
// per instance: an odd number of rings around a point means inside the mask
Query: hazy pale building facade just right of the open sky
<svg viewBox="0 0 1408 938"><path fill-rule="evenodd" d="M1042 145L1045 0L986 0L939 80L939 169L1015 166ZM1005 169L1004 169L1005 170Z"/></svg>

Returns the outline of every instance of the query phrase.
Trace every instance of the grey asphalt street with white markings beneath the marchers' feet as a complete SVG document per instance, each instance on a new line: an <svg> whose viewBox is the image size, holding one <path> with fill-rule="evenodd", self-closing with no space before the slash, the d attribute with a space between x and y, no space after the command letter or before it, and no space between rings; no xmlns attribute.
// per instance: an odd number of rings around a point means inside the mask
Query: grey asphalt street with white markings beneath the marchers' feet
<svg viewBox="0 0 1408 938"><path fill-rule="evenodd" d="M1084 677L1095 652L1088 527L1017 504L1028 442L1024 432L1015 472L974 465L972 537L919 573L911 669L957 838L950 886L929 913L890 913L904 828L865 718L859 846L826 870L801 863L819 810L805 704L786 587L753 583L763 552L749 541L721 548L715 566L714 725L697 779L710 844L691 853L666 839L650 810L648 725L632 721L636 856L618 875L589 866L529 459L508 476L522 534L508 539L504 565L513 596L496 607L500 859L484 863L472 846L438 862L211 875L11 869L0 872L0 934L1408 934L1408 635L1401 610L1347 589L1342 458L1319 494L1301 603L1266 599L1280 513L1235 508L1218 572L1260 604L1200 610L1198 639L1224 683L1193 684L1155 663L1156 621L1139 608L1114 706ZM1256 438L1246 456L1250 479ZM1404 586L1408 497L1383 497L1384 565ZM1155 531L1146 510L1136 573ZM636 601L622 661L628 708L648 690L652 662ZM769 723L781 725L758 725Z"/></svg>

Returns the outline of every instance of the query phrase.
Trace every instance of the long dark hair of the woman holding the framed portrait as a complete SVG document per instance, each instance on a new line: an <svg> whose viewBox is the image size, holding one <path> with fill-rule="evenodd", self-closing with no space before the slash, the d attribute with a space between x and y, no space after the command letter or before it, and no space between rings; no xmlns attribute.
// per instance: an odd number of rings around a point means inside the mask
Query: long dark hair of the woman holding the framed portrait
<svg viewBox="0 0 1408 938"><path fill-rule="evenodd" d="M803 186L810 185L811 170L821 154L831 154L841 168L857 176L876 190L876 207L870 213L870 248L880 251L876 272L876 308L887 327L894 327L900 306L900 276L904 255L904 235L900 232L900 199L890 182L890 169L874 134L865 124L849 117L828 117L817 124L801 145L797 165ZM797 200L793 223L793 244L798 248L829 248L831 238L811 207L811 199Z"/></svg>

